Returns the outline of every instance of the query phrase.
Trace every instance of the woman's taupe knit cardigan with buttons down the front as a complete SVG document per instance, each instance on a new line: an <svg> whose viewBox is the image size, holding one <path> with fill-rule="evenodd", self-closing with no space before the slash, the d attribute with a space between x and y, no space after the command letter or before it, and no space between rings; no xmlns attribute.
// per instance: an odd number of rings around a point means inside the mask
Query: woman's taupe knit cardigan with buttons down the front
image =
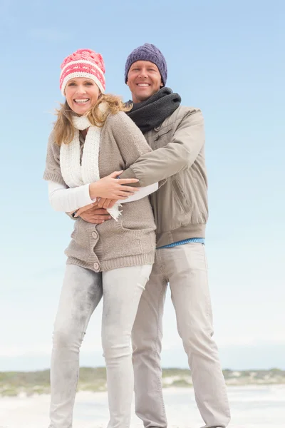
<svg viewBox="0 0 285 428"><path fill-rule="evenodd" d="M128 168L149 152L144 136L125 113L109 115L100 134L100 177ZM43 178L66 184L60 163L60 147L54 143L51 133ZM66 249L67 263L95 272L152 264L155 257L154 231L155 222L148 198L125 203L118 222L111 219L96 226L78 218Z"/></svg>

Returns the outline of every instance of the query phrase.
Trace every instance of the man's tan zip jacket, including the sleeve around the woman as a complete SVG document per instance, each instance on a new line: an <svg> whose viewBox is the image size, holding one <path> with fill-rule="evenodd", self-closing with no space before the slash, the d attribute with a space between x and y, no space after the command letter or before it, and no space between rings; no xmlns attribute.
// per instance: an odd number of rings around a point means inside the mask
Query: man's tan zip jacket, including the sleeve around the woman
<svg viewBox="0 0 285 428"><path fill-rule="evenodd" d="M140 186L160 181L160 189L150 195L157 247L204 238L208 205L201 111L180 106L145 138L153 151L140 156L120 177L138 178Z"/></svg>

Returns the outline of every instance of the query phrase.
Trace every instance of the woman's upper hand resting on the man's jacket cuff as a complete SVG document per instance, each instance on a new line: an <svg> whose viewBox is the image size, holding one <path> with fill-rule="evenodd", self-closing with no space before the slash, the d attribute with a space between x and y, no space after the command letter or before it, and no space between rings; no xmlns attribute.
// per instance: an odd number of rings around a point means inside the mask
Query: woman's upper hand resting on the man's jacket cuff
<svg viewBox="0 0 285 428"><path fill-rule="evenodd" d="M121 171L115 171L114 173L107 175L107 177L101 178L95 183L90 183L89 193L90 198L105 198L105 199L126 199L128 196L138 192L138 188L125 186L124 184L138 183L137 178L116 178L118 175L123 173Z"/></svg>

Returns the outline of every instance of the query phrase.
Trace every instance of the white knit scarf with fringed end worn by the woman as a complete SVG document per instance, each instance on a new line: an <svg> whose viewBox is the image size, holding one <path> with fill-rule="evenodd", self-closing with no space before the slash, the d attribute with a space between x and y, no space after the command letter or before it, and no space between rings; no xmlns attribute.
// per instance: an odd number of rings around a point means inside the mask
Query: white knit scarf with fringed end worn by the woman
<svg viewBox="0 0 285 428"><path fill-rule="evenodd" d="M73 141L69 144L61 144L61 174L69 188L100 180L99 148L102 128L92 126L86 116L73 116L73 125L76 128ZM88 132L81 159L79 131L86 128L88 128ZM120 206L119 203L116 203L113 208L108 208L108 213L115 220L118 220L120 215Z"/></svg>

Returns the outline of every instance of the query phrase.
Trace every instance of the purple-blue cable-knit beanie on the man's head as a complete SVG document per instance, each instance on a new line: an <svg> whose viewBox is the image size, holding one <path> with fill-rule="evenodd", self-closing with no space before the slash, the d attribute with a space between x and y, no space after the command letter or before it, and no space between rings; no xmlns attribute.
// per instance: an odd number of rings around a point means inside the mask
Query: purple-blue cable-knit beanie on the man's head
<svg viewBox="0 0 285 428"><path fill-rule="evenodd" d="M167 79L167 64L165 61L165 57L155 45L145 43L143 46L139 46L137 49L134 49L133 52L130 53L125 63L125 83L127 83L128 80L128 72L130 70L130 66L135 61L150 61L152 63L155 63L155 65L160 71L162 83L165 86Z"/></svg>

